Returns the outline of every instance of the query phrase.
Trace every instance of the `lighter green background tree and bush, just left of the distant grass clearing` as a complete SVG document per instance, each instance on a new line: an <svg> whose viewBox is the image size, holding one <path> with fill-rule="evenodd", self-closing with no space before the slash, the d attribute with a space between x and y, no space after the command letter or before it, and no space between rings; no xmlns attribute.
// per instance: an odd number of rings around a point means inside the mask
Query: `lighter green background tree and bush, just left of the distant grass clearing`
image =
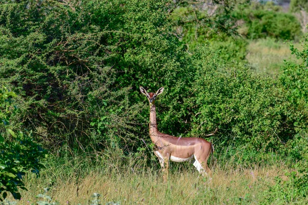
<svg viewBox="0 0 308 205"><path fill-rule="evenodd" d="M182 48L194 50L198 44L209 41L222 63L244 60L247 43L237 36L237 19L231 13L239 2L246 1L181 2L172 10L170 18Z"/></svg>

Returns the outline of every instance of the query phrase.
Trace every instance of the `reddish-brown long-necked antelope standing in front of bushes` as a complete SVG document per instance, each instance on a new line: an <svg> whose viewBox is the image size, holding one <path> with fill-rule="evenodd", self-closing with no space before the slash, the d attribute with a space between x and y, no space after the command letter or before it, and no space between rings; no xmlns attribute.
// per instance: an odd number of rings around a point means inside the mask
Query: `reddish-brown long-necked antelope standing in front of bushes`
<svg viewBox="0 0 308 205"><path fill-rule="evenodd" d="M162 167L164 181L168 178L169 160L183 162L192 159L192 163L197 170L202 175L207 175L210 171L207 167L207 159L214 152L213 145L198 137L181 138L159 132L156 121L155 100L158 95L162 94L164 88L158 89L156 93L148 93L140 86L140 91L147 97L150 104L149 135L153 144L155 144L154 154L158 157ZM214 133L209 135L214 135Z"/></svg>

